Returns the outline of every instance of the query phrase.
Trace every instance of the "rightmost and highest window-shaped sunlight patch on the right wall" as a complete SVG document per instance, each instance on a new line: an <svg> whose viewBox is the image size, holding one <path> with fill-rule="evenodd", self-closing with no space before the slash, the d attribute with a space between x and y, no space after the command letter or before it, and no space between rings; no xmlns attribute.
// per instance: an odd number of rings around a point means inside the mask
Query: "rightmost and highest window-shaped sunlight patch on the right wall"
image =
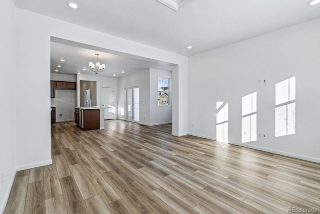
<svg viewBox="0 0 320 214"><path fill-rule="evenodd" d="M275 137L295 134L295 77L275 84Z"/></svg>

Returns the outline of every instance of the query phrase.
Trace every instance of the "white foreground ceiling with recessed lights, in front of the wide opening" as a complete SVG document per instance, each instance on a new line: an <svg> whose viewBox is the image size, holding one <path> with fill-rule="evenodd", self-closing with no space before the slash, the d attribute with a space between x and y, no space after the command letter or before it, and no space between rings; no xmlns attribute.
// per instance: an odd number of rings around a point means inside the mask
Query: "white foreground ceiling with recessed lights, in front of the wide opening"
<svg viewBox="0 0 320 214"><path fill-rule="evenodd" d="M309 0L195 0L176 12L157 0L15 0L15 6L162 50L192 56L320 18ZM193 46L186 49L186 46Z"/></svg>

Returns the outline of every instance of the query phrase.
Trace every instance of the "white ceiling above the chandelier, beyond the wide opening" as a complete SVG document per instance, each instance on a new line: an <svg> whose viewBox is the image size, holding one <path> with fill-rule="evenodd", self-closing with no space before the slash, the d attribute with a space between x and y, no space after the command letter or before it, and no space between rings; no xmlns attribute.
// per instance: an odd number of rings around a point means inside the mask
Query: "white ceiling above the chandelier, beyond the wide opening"
<svg viewBox="0 0 320 214"><path fill-rule="evenodd" d="M52 40L55 42L52 42ZM108 53L110 51L106 49L69 42L58 38L51 39L50 46L51 73L75 75L80 72L81 74L96 75L89 68L89 62L94 64L96 62L95 53L99 53L98 60L100 64L105 64L105 69L98 74L99 76L114 77L113 74L115 74L115 77L122 77L147 68L164 71L172 70L172 64L169 63L152 62L149 59L138 59L134 56L123 56L121 53L112 54ZM60 59L64 59L65 61L61 62ZM57 65L61 67L58 68ZM83 71L83 68L86 70ZM58 72L55 72L55 69L57 69ZM122 70L124 70L124 73L122 73Z"/></svg>

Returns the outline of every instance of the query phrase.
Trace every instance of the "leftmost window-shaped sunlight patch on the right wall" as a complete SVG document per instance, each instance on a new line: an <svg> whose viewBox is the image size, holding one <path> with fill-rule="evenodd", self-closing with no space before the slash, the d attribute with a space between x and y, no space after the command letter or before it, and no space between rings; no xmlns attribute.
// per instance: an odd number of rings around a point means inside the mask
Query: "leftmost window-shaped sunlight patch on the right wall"
<svg viewBox="0 0 320 214"><path fill-rule="evenodd" d="M228 104L223 105L223 102L216 102L216 141L228 142Z"/></svg>

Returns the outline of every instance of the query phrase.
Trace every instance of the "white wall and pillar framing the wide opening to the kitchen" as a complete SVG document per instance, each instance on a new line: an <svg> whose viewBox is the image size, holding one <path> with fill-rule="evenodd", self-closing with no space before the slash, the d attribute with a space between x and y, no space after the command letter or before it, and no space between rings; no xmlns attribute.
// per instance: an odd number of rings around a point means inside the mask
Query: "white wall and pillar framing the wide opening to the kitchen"
<svg viewBox="0 0 320 214"><path fill-rule="evenodd" d="M172 132L187 132L187 94L179 93L187 90L187 57L15 9L16 105L24 108L16 111L18 169L51 163L50 36L178 65L172 77Z"/></svg>

